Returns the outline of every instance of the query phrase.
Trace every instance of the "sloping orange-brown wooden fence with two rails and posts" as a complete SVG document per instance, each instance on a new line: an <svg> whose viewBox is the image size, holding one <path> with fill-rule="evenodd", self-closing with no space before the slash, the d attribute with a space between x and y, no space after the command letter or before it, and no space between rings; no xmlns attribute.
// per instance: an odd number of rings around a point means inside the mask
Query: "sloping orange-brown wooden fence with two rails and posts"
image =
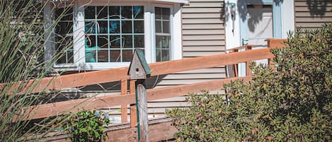
<svg viewBox="0 0 332 142"><path fill-rule="evenodd" d="M268 47L283 47L284 45L281 44L282 41L282 39L268 39ZM251 47L252 45L236 47L231 49L232 52L229 54L217 54L208 57L195 57L190 59L149 64L151 76L159 76L193 69L205 69L214 66L234 65L241 62L246 62L248 66L248 62L250 61L273 58L273 54L270 53L270 48L251 49ZM246 49L246 51L237 52L238 49ZM45 90L59 90L61 88L93 85L98 83L109 83L114 81L121 81L121 93L32 106L29 107L29 111L33 112L33 114L26 114L25 119L40 119L57 116L59 114L63 114L64 112L76 112L79 109L103 109L121 105L121 120L122 122L127 122L127 105L135 103L135 81L130 81L130 88L128 89L127 84L129 76L127 75L127 70L128 67L125 67L42 78L40 81L37 81L38 85L35 85L35 88L33 88L33 93ZM147 99L159 100L168 97L188 95L188 93L198 93L201 90L219 90L222 84L230 83L236 79L244 81L251 80L251 71L248 70L248 67L246 71L247 76L245 77L237 77L236 72L237 69L234 68L235 76L233 78L225 78L203 83L193 83L189 85L176 85L174 87L149 89L147 90ZM31 85L34 82L34 80L31 80L28 82L28 85ZM0 84L0 87L2 85ZM136 126L137 119L135 106L130 107L130 117L131 126Z"/></svg>

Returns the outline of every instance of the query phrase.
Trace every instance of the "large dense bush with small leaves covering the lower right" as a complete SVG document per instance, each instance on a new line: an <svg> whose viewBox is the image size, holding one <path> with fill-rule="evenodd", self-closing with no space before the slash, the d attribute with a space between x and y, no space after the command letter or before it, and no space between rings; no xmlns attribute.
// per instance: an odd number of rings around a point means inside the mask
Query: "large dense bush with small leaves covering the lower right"
<svg viewBox="0 0 332 142"><path fill-rule="evenodd" d="M331 141L331 38L331 23L297 30L271 49L275 70L251 64L253 80L224 85L224 97L190 95L193 107L168 112L177 141Z"/></svg>

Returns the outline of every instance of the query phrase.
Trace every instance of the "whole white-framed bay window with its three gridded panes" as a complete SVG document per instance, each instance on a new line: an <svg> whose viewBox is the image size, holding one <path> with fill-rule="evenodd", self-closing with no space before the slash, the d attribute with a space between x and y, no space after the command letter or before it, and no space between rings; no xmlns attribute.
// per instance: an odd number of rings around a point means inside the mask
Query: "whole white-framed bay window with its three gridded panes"
<svg viewBox="0 0 332 142"><path fill-rule="evenodd" d="M55 28L55 50L69 43L71 47L55 68L129 66L134 49L142 49L148 63L181 59L180 4L136 3L77 3L69 11L57 8L55 18L67 13Z"/></svg>

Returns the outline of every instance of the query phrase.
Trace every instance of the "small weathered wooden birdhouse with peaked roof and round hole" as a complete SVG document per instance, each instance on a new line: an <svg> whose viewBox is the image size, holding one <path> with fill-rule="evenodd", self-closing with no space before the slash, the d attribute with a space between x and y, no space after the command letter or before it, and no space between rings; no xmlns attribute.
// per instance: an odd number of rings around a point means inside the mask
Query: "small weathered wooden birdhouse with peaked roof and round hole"
<svg viewBox="0 0 332 142"><path fill-rule="evenodd" d="M146 79L150 77L151 70L141 49L135 49L128 75L130 79Z"/></svg>

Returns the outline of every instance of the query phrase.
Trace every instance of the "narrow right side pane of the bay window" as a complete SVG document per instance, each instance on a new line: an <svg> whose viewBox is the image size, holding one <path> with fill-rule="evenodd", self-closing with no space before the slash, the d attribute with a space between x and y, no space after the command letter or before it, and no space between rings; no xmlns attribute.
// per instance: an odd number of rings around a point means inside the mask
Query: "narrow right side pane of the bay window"
<svg viewBox="0 0 332 142"><path fill-rule="evenodd" d="M169 61L171 52L170 8L155 7L156 61Z"/></svg>

